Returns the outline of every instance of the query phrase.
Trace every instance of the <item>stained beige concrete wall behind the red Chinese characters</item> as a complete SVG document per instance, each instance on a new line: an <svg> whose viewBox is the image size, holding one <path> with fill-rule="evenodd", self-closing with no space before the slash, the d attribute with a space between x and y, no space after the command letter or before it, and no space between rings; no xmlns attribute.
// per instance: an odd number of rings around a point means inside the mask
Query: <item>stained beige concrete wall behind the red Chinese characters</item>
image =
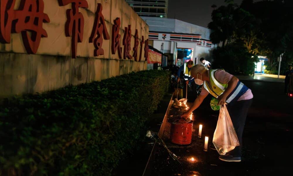
<svg viewBox="0 0 293 176"><path fill-rule="evenodd" d="M18 9L20 1L16 0L15 9ZM120 18L121 47L124 47L122 45L124 27L131 25L131 55L135 29L138 30L141 41L142 35L144 39L148 38L149 28L125 0L107 0L107 2L87 0L87 2L88 9L79 8L79 12L84 16L84 38L82 43L77 44L76 59L71 58L71 37L65 36L66 10L71 9L71 4L59 6L57 0L50 2L44 0L44 13L50 18L50 23L43 24L48 37L41 39L35 55L26 53L20 33L11 35L11 43L0 43L0 98L15 94L44 92L147 69L147 62L136 62L133 58L119 59L117 52L112 55L111 39L103 40L104 55L94 57L94 45L89 43L89 37L98 3L103 6L102 13L110 38L113 20Z"/></svg>

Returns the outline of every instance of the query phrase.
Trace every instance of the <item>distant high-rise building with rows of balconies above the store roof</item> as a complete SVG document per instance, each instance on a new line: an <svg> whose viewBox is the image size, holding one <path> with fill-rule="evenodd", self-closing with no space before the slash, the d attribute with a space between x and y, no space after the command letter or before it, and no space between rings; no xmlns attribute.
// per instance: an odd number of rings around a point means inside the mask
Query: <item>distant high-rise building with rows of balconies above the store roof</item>
<svg viewBox="0 0 293 176"><path fill-rule="evenodd" d="M126 0L139 16L167 18L168 0Z"/></svg>

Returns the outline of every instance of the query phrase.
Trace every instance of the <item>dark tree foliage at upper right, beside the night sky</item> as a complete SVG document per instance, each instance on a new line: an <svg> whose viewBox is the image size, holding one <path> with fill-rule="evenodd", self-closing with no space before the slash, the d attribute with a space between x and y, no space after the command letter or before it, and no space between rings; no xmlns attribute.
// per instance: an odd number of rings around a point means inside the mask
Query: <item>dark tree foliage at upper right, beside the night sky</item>
<svg viewBox="0 0 293 176"><path fill-rule="evenodd" d="M281 68L292 64L292 0L243 0L240 6L233 0L225 2L225 6L214 7L212 22L208 24L214 44L222 43L222 47L233 44L245 47L248 53L265 55L272 70L281 53L285 53Z"/></svg>

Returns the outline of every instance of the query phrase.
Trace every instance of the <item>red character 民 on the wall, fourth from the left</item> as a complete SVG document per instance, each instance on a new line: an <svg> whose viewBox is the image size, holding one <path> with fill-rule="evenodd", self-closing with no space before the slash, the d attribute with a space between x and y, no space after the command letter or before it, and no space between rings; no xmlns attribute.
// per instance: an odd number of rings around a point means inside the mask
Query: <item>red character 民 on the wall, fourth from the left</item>
<svg viewBox="0 0 293 176"><path fill-rule="evenodd" d="M114 20L114 24L112 26L112 54L115 54L117 49L118 49L118 56L119 59L122 59L122 48L120 47L120 38L121 35L119 34L119 29L120 29L120 18L116 18Z"/></svg>

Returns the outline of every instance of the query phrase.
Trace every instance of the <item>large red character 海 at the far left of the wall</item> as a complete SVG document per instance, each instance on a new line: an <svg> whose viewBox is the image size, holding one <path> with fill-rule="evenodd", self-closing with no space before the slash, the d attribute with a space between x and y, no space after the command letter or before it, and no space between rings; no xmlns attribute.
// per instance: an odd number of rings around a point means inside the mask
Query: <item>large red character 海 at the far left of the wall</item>
<svg viewBox="0 0 293 176"><path fill-rule="evenodd" d="M28 54L35 54L42 37L48 37L43 23L50 19L44 13L43 0L21 0L14 10L15 0L0 1L0 42L10 43L11 33L21 33ZM28 33L30 32L30 34Z"/></svg>

